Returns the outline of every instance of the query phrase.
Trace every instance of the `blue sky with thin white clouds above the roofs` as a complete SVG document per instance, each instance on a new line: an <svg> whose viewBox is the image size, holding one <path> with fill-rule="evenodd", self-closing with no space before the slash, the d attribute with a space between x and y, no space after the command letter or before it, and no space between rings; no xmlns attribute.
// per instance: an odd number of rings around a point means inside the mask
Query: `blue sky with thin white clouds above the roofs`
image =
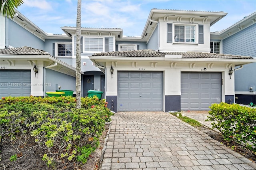
<svg viewBox="0 0 256 170"><path fill-rule="evenodd" d="M256 11L256 0L82 0L82 27L121 28L141 36L152 8L227 12L210 31L226 29ZM46 33L76 26L76 0L24 0L18 11Z"/></svg>

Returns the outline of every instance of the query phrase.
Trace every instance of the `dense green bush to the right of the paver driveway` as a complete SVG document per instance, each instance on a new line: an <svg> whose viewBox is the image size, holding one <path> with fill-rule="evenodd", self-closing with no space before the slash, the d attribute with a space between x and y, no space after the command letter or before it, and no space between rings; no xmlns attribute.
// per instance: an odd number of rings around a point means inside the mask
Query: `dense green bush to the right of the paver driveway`
<svg viewBox="0 0 256 170"><path fill-rule="evenodd" d="M206 121L213 121L227 142L235 141L256 151L256 109L238 104L220 103L210 107Z"/></svg>

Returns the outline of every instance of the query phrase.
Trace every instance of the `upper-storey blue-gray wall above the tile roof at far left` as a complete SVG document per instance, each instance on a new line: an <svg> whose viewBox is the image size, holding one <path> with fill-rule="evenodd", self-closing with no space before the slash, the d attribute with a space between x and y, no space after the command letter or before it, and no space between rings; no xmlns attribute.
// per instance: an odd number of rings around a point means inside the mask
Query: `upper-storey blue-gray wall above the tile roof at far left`
<svg viewBox="0 0 256 170"><path fill-rule="evenodd" d="M44 41L36 37L34 34L28 32L11 19L8 20L8 45L13 47L32 47L44 50Z"/></svg>

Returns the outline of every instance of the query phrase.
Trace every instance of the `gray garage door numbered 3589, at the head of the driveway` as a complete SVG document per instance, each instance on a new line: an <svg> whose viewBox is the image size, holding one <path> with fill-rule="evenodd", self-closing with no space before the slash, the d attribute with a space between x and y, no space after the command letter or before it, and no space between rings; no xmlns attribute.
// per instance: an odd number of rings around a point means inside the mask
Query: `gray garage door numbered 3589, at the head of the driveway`
<svg viewBox="0 0 256 170"><path fill-rule="evenodd" d="M118 72L118 111L163 111L163 73Z"/></svg>

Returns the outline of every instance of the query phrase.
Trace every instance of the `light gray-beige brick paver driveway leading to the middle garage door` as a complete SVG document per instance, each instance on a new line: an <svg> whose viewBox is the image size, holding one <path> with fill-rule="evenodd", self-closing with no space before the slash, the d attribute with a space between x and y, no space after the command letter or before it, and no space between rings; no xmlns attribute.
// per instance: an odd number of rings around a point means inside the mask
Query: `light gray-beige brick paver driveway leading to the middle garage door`
<svg viewBox="0 0 256 170"><path fill-rule="evenodd" d="M112 117L102 170L254 170L256 164L164 112Z"/></svg>

